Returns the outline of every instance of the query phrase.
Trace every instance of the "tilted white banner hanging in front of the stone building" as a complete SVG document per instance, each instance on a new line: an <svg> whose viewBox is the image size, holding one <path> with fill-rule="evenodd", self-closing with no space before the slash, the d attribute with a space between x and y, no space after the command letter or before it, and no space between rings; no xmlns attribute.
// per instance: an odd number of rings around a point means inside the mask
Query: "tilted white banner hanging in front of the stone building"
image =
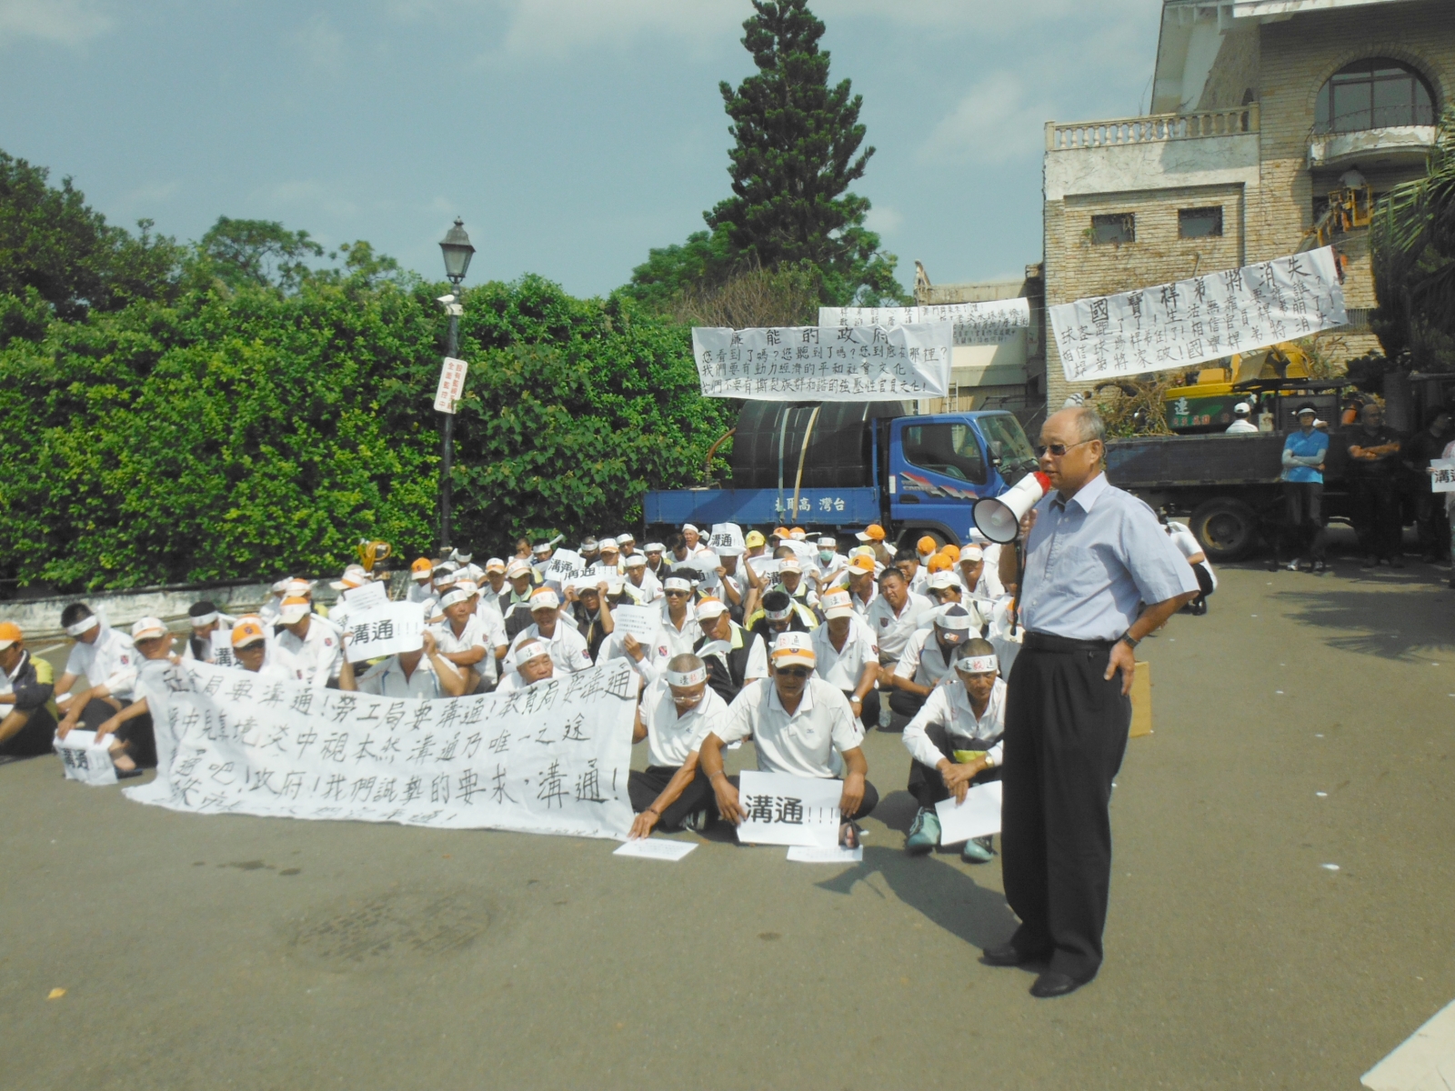
<svg viewBox="0 0 1455 1091"><path fill-rule="evenodd" d="M1051 307L1068 383L1171 371L1343 326L1333 247Z"/></svg>

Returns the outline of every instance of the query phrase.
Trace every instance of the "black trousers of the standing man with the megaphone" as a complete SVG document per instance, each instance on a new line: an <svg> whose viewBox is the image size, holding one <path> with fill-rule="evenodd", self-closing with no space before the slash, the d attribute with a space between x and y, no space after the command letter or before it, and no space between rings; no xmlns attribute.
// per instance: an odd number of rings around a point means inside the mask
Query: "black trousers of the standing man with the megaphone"
<svg viewBox="0 0 1455 1091"><path fill-rule="evenodd" d="M1110 644L1027 633L1005 701L1001 868L1011 943L1090 980L1112 884L1112 778L1132 703L1104 679Z"/></svg>

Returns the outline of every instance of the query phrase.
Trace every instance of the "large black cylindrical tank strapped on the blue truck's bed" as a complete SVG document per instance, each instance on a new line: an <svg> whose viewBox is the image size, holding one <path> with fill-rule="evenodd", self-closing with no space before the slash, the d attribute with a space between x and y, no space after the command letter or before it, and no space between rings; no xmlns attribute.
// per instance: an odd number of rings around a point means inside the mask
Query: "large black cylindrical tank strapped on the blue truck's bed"
<svg viewBox="0 0 1455 1091"><path fill-rule="evenodd" d="M803 435L813 416L813 401L749 401L738 416L732 444L735 489L777 489L778 449L783 449L783 484L793 487ZM870 422L905 416L902 401L825 401L813 422L803 461L805 489L856 489L874 483ZM784 429L784 422L787 428Z"/></svg>

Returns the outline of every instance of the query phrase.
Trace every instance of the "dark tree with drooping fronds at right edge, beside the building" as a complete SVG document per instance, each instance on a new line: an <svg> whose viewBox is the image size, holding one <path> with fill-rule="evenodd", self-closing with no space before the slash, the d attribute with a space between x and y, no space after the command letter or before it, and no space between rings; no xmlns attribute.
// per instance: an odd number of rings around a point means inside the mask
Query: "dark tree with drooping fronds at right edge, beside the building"
<svg viewBox="0 0 1455 1091"><path fill-rule="evenodd" d="M1379 202L1371 241L1379 310L1374 330L1390 359L1455 368L1455 108L1440 118L1426 176Z"/></svg>

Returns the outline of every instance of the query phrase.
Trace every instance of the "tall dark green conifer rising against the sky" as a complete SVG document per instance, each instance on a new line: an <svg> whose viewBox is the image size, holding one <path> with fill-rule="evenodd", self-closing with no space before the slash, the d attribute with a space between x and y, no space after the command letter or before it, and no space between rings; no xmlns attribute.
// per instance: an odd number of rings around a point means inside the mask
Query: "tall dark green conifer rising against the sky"
<svg viewBox="0 0 1455 1091"><path fill-rule="evenodd" d="M812 268L824 303L901 303L893 255L864 227L869 199L848 188L874 148L863 147L863 96L831 87L824 23L806 0L754 0L742 44L758 73L720 90L733 124L733 196L704 212L710 233L652 250L629 291L668 310L682 294L778 266Z"/></svg>

